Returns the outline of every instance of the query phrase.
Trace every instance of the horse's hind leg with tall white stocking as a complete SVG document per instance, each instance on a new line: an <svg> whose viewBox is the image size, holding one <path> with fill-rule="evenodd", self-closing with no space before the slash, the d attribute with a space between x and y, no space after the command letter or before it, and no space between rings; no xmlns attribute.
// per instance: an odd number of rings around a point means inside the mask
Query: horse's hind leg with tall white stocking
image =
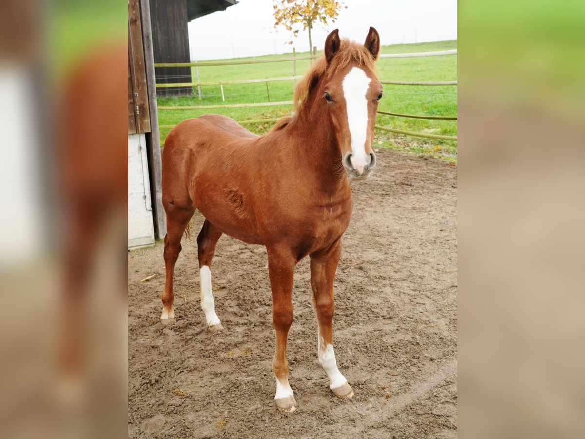
<svg viewBox="0 0 585 439"><path fill-rule="evenodd" d="M218 315L215 314L215 302L211 290L211 260L214 258L215 247L221 235L222 232L205 219L201 232L197 236L199 273L201 274L201 308L205 313L209 332L223 329Z"/></svg>

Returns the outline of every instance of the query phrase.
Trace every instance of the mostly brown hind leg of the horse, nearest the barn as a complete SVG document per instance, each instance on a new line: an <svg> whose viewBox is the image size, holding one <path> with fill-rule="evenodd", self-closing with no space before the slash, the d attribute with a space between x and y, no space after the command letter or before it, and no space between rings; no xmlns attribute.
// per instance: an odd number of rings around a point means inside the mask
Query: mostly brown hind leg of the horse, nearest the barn
<svg viewBox="0 0 585 439"><path fill-rule="evenodd" d="M175 317L173 310L173 275L175 263L181 252L181 238L183 238L185 228L187 228L194 212L194 209L167 209L167 235L164 236L164 268L166 270L166 277L162 297L163 314L160 316L163 322L172 320Z"/></svg>

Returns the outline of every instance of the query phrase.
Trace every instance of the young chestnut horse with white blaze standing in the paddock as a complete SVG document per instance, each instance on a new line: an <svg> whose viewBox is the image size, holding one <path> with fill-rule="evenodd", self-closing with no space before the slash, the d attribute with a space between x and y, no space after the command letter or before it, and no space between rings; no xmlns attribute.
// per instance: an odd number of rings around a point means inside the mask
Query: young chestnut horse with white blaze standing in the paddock
<svg viewBox="0 0 585 439"><path fill-rule="evenodd" d="M353 210L349 180L366 179L376 165L371 148L382 86L374 75L380 37L365 44L333 30L295 89L292 117L257 136L233 119L208 114L177 125L164 143L163 205L166 283L163 321L173 319L173 271L181 237L198 209L205 217L197 238L201 307L210 331L222 329L211 291L211 260L222 234L266 246L276 330L276 405L297 407L288 385L287 335L292 323L292 276L309 255L319 362L329 387L353 396L333 352L333 279L341 238Z"/></svg>

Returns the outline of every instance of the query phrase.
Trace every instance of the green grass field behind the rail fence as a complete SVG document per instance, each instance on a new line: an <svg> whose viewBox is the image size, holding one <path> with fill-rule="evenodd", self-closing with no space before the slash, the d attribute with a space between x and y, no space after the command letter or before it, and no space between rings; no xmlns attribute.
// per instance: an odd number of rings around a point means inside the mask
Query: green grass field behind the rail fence
<svg viewBox="0 0 585 439"><path fill-rule="evenodd" d="M435 50L456 49L457 40L418 44L395 44L383 46L381 53L432 52ZM297 53L307 56L308 52ZM238 60L278 59L292 56L266 55L259 57L239 58ZM232 61L217 60L217 61ZM297 74L304 74L309 61L297 61ZM456 81L457 55L415 57L415 58L381 58L377 63L378 78L383 81ZM291 76L292 61L281 63L249 64L243 66L210 66L199 67L201 82L230 81L242 79L273 78ZM196 81L195 68L192 68L192 80ZM202 99L199 100L197 88L191 97L159 97L161 106L184 105L221 105L246 104L252 102L291 101L294 81L279 81L257 84L224 85L225 102L222 102L219 85L202 87ZM416 86L416 85L384 85L384 98L380 101L380 111L415 115L457 115L457 87L449 86ZM282 107L260 108L216 108L209 110L161 110L159 109L160 125L176 125L187 118L194 118L206 113L224 114L244 121L246 119L276 118L292 112L291 105ZM255 133L264 133L273 125L245 125ZM425 120L401 118L398 116L378 115L377 125L389 126L407 131L425 132L448 136L457 135L457 121ZM161 129L161 145L169 129ZM451 140L425 139L405 136L390 132L376 131L378 147L405 150L418 155L432 156L450 163L457 163L457 142Z"/></svg>

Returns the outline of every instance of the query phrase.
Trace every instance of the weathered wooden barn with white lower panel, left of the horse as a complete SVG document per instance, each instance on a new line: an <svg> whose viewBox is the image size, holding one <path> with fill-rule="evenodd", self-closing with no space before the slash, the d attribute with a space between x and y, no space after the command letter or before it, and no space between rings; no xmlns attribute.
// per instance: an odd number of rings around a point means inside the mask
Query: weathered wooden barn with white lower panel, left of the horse
<svg viewBox="0 0 585 439"><path fill-rule="evenodd" d="M128 248L153 245L166 234L161 193L161 150L156 81L190 83L191 69L154 63L189 62L187 23L225 11L235 0L129 0L128 2ZM177 77L178 76L178 77ZM191 94L191 87L164 88Z"/></svg>

